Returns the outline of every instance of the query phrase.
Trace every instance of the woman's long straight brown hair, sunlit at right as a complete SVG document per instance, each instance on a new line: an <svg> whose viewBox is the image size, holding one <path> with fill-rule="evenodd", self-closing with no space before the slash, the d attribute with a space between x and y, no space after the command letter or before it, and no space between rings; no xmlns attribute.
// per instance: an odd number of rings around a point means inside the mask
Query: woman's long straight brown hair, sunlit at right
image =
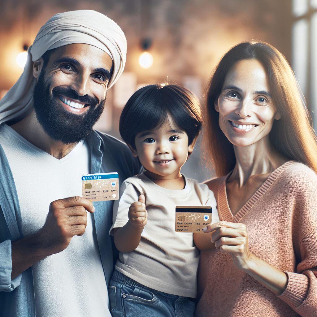
<svg viewBox="0 0 317 317"><path fill-rule="evenodd" d="M301 91L285 57L265 42L243 42L230 49L212 75L206 98L204 146L217 176L228 174L236 164L233 145L219 127L215 101L230 68L241 60L256 59L268 76L270 93L280 120L275 120L270 141L288 159L309 166L317 173L317 138Z"/></svg>

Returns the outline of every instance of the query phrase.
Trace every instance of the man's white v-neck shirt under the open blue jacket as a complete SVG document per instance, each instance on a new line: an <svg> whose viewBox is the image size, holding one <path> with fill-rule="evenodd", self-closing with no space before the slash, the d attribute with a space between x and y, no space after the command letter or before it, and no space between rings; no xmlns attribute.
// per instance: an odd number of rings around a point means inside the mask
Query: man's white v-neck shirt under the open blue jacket
<svg viewBox="0 0 317 317"><path fill-rule="evenodd" d="M24 236L43 227L52 201L82 196L81 175L89 174L91 156L84 141L60 160L7 125L0 143L15 181ZM87 212L84 235L32 266L36 317L111 316L92 217Z"/></svg>

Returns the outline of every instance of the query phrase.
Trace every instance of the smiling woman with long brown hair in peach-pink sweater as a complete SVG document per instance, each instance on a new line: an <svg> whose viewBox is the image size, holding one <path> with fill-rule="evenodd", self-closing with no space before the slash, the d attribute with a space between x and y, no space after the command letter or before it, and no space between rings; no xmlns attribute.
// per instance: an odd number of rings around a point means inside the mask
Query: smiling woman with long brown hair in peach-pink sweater
<svg viewBox="0 0 317 317"><path fill-rule="evenodd" d="M196 316L317 316L317 142L284 56L230 49L206 117L221 221L195 239Z"/></svg>

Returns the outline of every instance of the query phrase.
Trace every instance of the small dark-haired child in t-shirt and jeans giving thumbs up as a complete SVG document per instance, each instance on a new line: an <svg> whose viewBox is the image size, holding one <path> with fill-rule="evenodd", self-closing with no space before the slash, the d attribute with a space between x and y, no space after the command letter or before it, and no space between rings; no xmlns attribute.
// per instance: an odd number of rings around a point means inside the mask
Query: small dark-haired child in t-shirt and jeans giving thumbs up
<svg viewBox="0 0 317 317"><path fill-rule="evenodd" d="M122 111L121 137L145 171L125 180L114 205L113 317L193 316L199 251L192 233L175 232L175 207L211 206L217 214L207 185L180 173L201 125L197 98L175 84L139 89Z"/></svg>

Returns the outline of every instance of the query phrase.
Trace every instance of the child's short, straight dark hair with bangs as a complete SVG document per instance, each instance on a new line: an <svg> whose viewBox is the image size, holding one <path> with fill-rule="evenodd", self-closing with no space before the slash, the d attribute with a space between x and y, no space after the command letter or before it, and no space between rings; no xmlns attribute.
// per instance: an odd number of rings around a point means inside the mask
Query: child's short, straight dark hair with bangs
<svg viewBox="0 0 317 317"><path fill-rule="evenodd" d="M197 97L176 84L159 83L137 90L122 110L120 135L135 149L135 136L159 128L168 114L187 133L190 145L202 126L201 109Z"/></svg>

